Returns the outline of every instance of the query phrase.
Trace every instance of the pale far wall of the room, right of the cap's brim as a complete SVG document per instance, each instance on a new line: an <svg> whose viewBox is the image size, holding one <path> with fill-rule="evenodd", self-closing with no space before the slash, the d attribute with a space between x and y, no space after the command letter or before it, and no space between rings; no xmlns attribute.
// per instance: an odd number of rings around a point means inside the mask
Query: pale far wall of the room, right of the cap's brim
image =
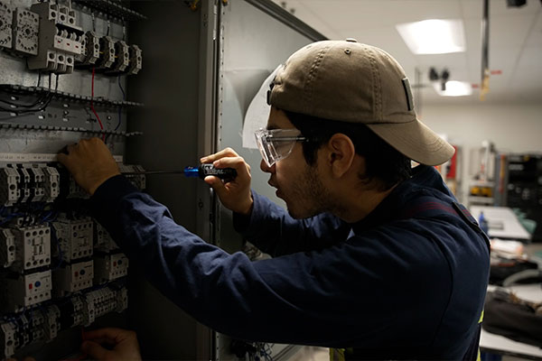
<svg viewBox="0 0 542 361"><path fill-rule="evenodd" d="M422 121L462 150L462 201L466 202L472 149L490 140L500 153L542 153L542 104L423 106Z"/></svg>

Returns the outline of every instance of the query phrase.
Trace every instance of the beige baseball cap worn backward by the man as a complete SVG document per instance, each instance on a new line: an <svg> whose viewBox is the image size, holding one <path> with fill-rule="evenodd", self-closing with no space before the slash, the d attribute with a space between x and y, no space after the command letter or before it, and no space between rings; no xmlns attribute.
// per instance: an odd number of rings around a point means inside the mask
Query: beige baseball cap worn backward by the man
<svg viewBox="0 0 542 361"><path fill-rule="evenodd" d="M280 109L363 123L408 158L427 165L452 158L453 146L416 117L405 70L386 51L346 41L313 42L285 62L269 103Z"/></svg>

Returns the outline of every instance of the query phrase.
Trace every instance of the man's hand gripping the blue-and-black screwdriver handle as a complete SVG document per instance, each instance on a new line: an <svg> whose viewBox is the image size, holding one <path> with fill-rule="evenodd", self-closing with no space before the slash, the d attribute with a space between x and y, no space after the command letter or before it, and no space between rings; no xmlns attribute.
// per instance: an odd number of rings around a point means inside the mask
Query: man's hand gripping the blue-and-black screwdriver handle
<svg viewBox="0 0 542 361"><path fill-rule="evenodd" d="M248 216L252 212L252 194L250 193L250 166L231 148L201 158L202 163L212 162L215 168L234 168L238 175L235 180L222 182L214 176L205 177L213 190L219 195L224 207Z"/></svg>

